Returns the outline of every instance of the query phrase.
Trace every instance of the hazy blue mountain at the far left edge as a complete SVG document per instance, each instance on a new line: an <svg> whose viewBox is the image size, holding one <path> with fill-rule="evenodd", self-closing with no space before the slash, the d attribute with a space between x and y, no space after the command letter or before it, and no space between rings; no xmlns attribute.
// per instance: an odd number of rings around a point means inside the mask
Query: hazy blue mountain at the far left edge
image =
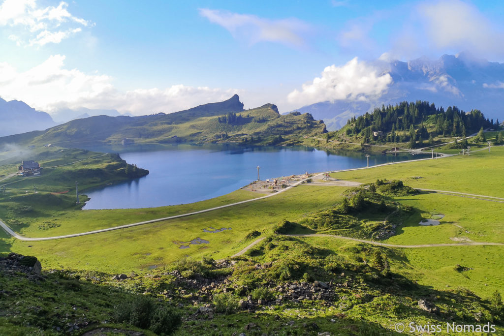
<svg viewBox="0 0 504 336"><path fill-rule="evenodd" d="M0 136L9 136L32 130L43 130L56 123L45 112L35 111L18 100L6 101L0 98Z"/></svg>

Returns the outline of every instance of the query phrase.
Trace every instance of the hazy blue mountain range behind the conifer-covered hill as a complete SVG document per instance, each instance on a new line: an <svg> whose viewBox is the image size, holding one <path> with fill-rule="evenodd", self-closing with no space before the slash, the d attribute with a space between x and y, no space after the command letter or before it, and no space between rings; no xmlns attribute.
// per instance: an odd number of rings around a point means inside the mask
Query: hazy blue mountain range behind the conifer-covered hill
<svg viewBox="0 0 504 336"><path fill-rule="evenodd" d="M474 59L465 53L443 55L437 60L420 57L408 62L376 61L393 84L373 101L335 100L296 109L323 119L328 129L342 127L351 116L371 112L375 106L401 101L430 101L436 106L456 105L464 110L479 109L485 116L504 119L504 63Z"/></svg>

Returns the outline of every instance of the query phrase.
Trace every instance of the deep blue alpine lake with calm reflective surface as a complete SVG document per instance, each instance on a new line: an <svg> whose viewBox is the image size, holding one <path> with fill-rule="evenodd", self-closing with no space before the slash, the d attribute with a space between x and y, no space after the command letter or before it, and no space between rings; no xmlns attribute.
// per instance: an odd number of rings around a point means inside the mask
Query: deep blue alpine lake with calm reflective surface
<svg viewBox="0 0 504 336"><path fill-rule="evenodd" d="M328 152L306 147L173 146L156 152L122 153L128 163L149 175L101 189L85 190L84 209L148 208L193 203L236 190L257 179L366 166L364 154ZM369 165L418 159L373 155Z"/></svg>

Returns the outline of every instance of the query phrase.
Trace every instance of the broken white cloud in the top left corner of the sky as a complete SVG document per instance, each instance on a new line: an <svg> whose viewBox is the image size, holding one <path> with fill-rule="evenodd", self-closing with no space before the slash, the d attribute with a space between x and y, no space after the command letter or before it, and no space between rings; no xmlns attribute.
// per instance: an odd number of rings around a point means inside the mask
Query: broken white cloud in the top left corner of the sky
<svg viewBox="0 0 504 336"><path fill-rule="evenodd" d="M67 7L65 2L57 7L39 7L36 0L5 0L0 5L0 27L14 30L9 39L18 46L60 43L80 32L82 26L91 25L70 14Z"/></svg>

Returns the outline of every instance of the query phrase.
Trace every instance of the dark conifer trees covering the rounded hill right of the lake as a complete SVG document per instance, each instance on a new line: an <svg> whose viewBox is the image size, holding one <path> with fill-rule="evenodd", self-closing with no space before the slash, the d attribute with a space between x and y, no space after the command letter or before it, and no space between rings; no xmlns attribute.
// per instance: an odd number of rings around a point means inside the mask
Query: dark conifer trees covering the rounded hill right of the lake
<svg viewBox="0 0 504 336"><path fill-rule="evenodd" d="M372 113L352 117L347 121L347 135L361 135L367 143L373 139L373 132L381 131L381 141L400 143L433 141L434 136L465 137L477 132L481 127L498 127L499 121L485 119L479 110L466 113L456 106L436 108L426 101L402 102L400 104L382 105ZM427 126L431 129L429 132Z"/></svg>

